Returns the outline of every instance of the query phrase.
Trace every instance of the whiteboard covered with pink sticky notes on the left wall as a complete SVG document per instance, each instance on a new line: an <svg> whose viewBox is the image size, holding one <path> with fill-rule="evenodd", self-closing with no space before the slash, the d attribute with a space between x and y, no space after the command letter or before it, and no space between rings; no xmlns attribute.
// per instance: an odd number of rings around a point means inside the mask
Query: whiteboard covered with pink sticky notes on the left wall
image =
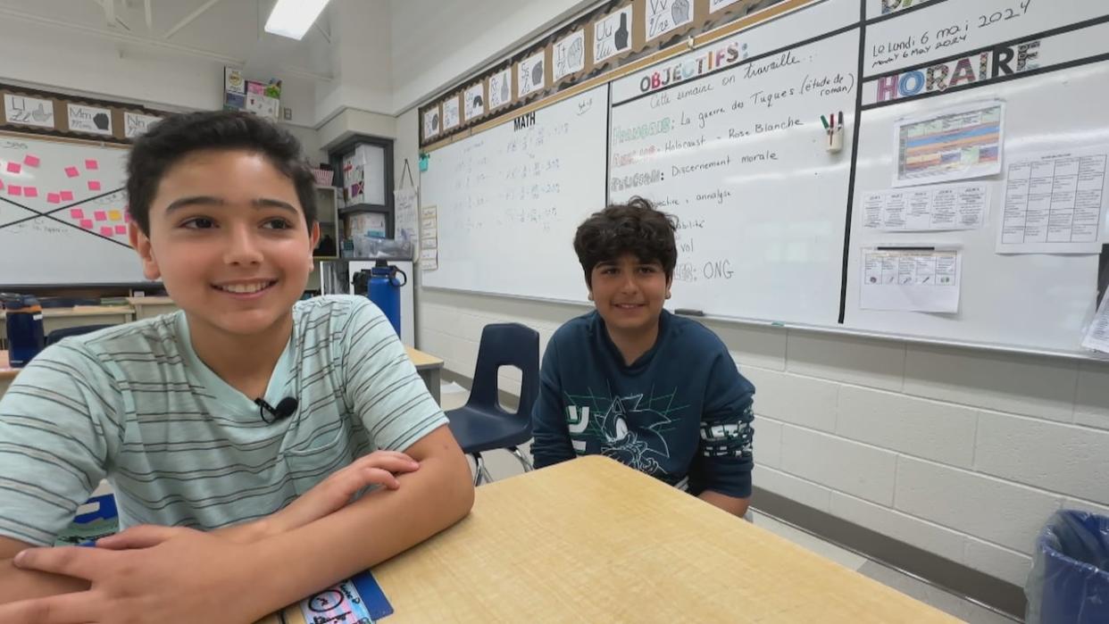
<svg viewBox="0 0 1109 624"><path fill-rule="evenodd" d="M136 284L126 150L0 135L0 285Z"/></svg>

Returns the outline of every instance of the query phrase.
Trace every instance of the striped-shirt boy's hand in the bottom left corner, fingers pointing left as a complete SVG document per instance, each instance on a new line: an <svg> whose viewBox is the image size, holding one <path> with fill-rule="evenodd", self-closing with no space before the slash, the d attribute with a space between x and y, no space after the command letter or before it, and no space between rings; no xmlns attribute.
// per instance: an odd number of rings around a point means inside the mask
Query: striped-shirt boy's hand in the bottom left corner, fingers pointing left
<svg viewBox="0 0 1109 624"><path fill-rule="evenodd" d="M136 526L136 550L28 549L17 567L85 579L88 591L0 605L0 622L253 622L266 607L243 586L248 549L192 529ZM262 613L258 613L262 611Z"/></svg>

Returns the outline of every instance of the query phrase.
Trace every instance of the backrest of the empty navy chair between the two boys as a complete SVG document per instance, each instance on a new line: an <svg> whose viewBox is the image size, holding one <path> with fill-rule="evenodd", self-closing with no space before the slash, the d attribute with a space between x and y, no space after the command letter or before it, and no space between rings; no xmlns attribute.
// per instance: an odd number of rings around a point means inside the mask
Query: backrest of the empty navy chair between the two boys
<svg viewBox="0 0 1109 624"><path fill-rule="evenodd" d="M520 405L509 416L531 422L531 408L539 398L539 333L519 323L490 324L481 330L467 407L508 413L500 409L497 396L497 371L502 366L515 366L523 374Z"/></svg>

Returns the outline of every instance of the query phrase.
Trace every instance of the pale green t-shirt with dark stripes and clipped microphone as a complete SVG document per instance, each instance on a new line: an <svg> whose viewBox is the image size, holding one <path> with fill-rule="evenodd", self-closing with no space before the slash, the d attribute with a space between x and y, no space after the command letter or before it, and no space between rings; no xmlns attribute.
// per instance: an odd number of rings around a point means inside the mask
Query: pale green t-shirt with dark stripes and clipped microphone
<svg viewBox="0 0 1109 624"><path fill-rule="evenodd" d="M298 301L265 422L192 349L183 311L69 338L0 399L0 534L50 544L106 478L120 528L213 530L272 514L354 458L447 422L367 298ZM272 418L267 415L267 419Z"/></svg>

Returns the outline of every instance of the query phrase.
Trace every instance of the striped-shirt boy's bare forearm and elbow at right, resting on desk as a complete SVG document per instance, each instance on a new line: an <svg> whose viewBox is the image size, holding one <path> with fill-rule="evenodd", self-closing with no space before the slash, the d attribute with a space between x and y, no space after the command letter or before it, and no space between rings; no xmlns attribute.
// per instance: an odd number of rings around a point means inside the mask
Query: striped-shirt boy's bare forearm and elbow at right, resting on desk
<svg viewBox="0 0 1109 624"><path fill-rule="evenodd" d="M243 579L261 589L276 610L321 587L380 563L461 520L474 504L469 464L446 427L405 450L419 469L399 474L396 490L378 489L301 528L254 542L257 575ZM272 571L282 570L279 574Z"/></svg>

